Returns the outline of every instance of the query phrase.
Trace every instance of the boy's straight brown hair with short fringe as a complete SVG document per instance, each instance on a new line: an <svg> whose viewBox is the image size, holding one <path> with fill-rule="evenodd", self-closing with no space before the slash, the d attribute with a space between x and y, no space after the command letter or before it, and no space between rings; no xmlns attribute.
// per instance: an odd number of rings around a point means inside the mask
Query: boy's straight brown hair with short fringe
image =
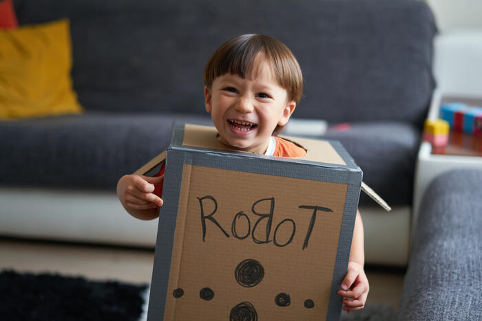
<svg viewBox="0 0 482 321"><path fill-rule="evenodd" d="M288 91L288 100L300 101L303 93L303 76L295 55L281 41L264 34L242 34L223 43L209 58L203 80L209 89L216 77L238 74L250 76L256 56L263 54L280 87ZM275 134L280 131L277 126Z"/></svg>

